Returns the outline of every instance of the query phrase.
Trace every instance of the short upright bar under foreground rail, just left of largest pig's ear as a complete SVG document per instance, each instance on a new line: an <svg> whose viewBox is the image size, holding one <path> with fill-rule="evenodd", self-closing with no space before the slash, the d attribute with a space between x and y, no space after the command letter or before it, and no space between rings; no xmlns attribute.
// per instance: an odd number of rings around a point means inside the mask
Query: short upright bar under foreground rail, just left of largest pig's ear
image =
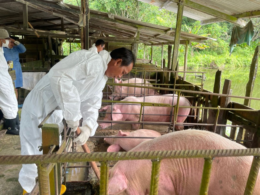
<svg viewBox="0 0 260 195"><path fill-rule="evenodd" d="M100 195L108 195L108 168L109 164L107 161L100 163Z"/></svg>

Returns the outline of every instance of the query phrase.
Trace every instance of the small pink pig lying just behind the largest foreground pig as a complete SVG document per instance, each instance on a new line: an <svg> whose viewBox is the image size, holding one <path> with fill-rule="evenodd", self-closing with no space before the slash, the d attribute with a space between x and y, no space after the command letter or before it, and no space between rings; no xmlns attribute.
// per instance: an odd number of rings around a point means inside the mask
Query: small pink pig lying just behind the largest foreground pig
<svg viewBox="0 0 260 195"><path fill-rule="evenodd" d="M157 131L149 129L139 129L132 132L118 131L114 136L128 136L128 137L159 137L161 134ZM138 144L150 140L148 138L104 138L104 142L110 144L108 152L118 152L121 149L129 151L136 147Z"/></svg>

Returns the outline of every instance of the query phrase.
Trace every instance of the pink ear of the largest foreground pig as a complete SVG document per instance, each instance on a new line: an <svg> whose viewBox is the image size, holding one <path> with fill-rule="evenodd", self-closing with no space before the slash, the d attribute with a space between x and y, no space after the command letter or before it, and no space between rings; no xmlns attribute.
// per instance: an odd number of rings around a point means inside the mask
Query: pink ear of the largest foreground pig
<svg viewBox="0 0 260 195"><path fill-rule="evenodd" d="M126 177L122 174L113 175L108 181L108 194L117 194L127 188Z"/></svg>

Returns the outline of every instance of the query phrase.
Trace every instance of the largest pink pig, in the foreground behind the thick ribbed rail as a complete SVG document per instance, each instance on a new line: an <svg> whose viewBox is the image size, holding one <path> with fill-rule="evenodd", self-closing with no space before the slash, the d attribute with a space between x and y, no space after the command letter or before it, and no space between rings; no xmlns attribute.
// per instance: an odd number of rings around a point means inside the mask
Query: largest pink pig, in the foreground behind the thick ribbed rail
<svg viewBox="0 0 260 195"><path fill-rule="evenodd" d="M245 149L216 133L176 131L140 143L130 151ZM209 195L242 195L253 157L216 157L212 163ZM164 159L159 175L159 195L199 194L204 159ZM146 195L150 191L151 160L118 161L109 172L108 194ZM259 176L254 195L260 194Z"/></svg>

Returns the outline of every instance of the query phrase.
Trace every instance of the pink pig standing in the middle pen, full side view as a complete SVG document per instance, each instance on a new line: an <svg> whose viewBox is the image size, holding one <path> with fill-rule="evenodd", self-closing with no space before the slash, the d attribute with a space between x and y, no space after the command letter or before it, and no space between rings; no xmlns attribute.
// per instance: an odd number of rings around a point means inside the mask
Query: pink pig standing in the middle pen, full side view
<svg viewBox="0 0 260 195"><path fill-rule="evenodd" d="M170 105L176 105L177 97L175 96L173 101L173 95L166 96L147 96L145 97L145 102L153 102L153 103L168 103ZM122 101L130 101L130 102L144 102L144 97L126 97ZM173 103L173 104L172 104ZM180 97L179 106L191 106L191 103L185 98ZM129 105L129 104L114 104L113 105L113 114L112 119L116 121L139 121L141 105ZM111 120L111 106L105 106L99 110L99 112L107 111L104 120ZM145 106L144 107L144 121L155 121L155 122L170 122L170 113L172 111L171 107L160 107L160 106ZM174 111L174 109L173 109ZM127 113L127 114L125 114ZM190 113L190 108L179 108L177 123L183 123L187 118L187 115ZM153 114L157 114L156 116ZM172 121L174 117L172 117ZM114 124L112 124L114 125ZM109 123L100 123L99 126L104 129L110 126ZM140 124L132 124L132 129L139 129ZM176 130L183 130L183 126L175 125Z"/></svg>

